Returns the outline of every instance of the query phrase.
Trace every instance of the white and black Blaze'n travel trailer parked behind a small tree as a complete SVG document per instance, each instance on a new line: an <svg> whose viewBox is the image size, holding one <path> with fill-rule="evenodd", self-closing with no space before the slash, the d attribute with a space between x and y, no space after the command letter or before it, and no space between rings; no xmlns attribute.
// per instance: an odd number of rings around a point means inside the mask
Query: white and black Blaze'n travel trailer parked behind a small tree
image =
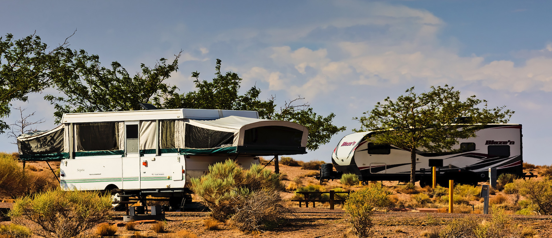
<svg viewBox="0 0 552 238"><path fill-rule="evenodd" d="M489 168L497 174L523 175L522 125L489 124L476 137L460 139L453 152L416 152L416 180L431 184L431 167L438 169L438 183L489 180ZM378 133L358 132L343 137L332 153L337 171L356 174L361 181L410 181L410 151L371 142Z"/></svg>

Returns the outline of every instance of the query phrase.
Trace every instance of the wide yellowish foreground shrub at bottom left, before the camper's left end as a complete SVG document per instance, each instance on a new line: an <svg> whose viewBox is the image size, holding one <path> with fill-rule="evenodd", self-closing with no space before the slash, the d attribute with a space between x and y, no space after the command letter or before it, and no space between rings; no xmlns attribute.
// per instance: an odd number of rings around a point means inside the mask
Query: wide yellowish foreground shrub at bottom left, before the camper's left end
<svg viewBox="0 0 552 238"><path fill-rule="evenodd" d="M73 237L104 221L111 198L88 191L46 191L15 200L9 216L16 223L23 219L36 223L43 237Z"/></svg>

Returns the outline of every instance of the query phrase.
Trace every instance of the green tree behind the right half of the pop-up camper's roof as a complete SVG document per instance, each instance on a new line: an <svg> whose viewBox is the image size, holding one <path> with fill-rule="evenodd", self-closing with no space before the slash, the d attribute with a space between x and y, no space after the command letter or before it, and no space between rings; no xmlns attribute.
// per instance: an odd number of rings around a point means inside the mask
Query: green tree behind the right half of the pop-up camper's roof
<svg viewBox="0 0 552 238"><path fill-rule="evenodd" d="M236 73L220 72L221 60L216 60L215 75L212 82L199 80L199 73L193 72L195 88L186 94L178 94L176 86L163 88L162 93L153 101L158 108L175 109L222 109L222 110L252 110L258 111L259 117L270 120L291 121L304 125L309 129L307 149L316 150L322 144L330 142L333 135L344 131L345 127L332 124L333 113L323 117L317 115L309 104L296 104L304 98L297 98L285 102L284 106L276 110L274 98L267 101L259 100L261 90L252 86L245 94L239 95L241 78Z"/></svg>

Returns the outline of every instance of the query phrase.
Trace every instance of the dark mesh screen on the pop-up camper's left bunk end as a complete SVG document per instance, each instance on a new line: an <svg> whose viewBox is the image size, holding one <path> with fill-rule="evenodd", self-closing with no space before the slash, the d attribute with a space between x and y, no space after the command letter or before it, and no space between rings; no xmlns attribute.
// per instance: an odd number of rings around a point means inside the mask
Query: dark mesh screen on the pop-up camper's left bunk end
<svg viewBox="0 0 552 238"><path fill-rule="evenodd" d="M63 152L63 130L60 129L46 136L19 142L23 154L54 154Z"/></svg>

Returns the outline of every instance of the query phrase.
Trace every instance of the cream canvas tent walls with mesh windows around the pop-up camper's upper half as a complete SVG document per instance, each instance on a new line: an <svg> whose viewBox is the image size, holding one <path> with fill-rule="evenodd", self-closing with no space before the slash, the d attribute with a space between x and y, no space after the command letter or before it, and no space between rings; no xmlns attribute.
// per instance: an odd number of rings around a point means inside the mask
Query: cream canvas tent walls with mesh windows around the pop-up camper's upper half
<svg viewBox="0 0 552 238"><path fill-rule="evenodd" d="M68 158L71 125L76 157L124 156L124 122L66 123L50 131L18 137L22 160ZM216 120L140 120L138 130L140 154L156 151L181 155L304 154L308 136L307 128L294 122L240 116Z"/></svg>

